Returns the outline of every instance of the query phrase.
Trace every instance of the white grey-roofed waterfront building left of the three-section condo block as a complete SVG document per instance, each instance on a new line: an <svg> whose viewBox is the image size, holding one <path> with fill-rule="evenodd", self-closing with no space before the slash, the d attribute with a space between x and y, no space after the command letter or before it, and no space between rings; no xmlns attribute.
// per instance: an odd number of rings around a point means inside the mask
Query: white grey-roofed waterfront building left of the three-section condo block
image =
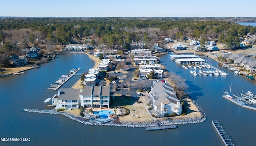
<svg viewBox="0 0 256 146"><path fill-rule="evenodd" d="M55 103L55 109L79 109L80 108L80 89L62 88L58 91L58 95L52 98Z"/></svg>

